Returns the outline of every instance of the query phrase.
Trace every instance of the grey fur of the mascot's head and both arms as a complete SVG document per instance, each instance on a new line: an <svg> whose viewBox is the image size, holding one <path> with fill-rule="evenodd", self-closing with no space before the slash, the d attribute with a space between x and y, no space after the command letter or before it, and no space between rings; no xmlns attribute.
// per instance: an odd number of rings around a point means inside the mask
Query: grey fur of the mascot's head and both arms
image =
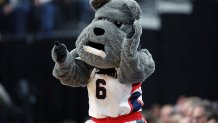
<svg viewBox="0 0 218 123"><path fill-rule="evenodd" d="M137 50L142 28L138 23L141 9L134 0L90 0L95 18L82 31L76 48L67 51L66 60L56 62L53 75L63 84L86 86L94 68L115 68L117 78L123 83L143 82L155 69L151 54L146 49ZM91 45L92 44L92 45ZM84 46L104 47L106 57L84 50Z"/></svg>

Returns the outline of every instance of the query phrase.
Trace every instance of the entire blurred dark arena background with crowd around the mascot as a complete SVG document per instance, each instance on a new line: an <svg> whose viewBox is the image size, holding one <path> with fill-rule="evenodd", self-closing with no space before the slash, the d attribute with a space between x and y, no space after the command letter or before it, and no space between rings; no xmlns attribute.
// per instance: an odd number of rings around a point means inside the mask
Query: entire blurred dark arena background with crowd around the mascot
<svg viewBox="0 0 218 123"><path fill-rule="evenodd" d="M141 45L156 63L142 86L148 123L217 122L218 1L137 1ZM52 76L51 49L55 40L75 48L93 18L88 0L0 0L0 123L89 118L86 88ZM204 112L196 114L196 107Z"/></svg>

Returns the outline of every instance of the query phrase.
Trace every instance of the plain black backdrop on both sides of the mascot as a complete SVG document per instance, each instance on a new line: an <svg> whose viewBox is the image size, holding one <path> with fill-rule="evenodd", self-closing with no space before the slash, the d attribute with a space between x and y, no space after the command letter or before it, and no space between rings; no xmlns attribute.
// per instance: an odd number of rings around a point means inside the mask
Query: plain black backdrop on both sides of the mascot
<svg viewBox="0 0 218 123"><path fill-rule="evenodd" d="M143 30L141 45L156 63L155 73L142 86L144 108L175 103L181 95L218 99L218 2L194 1L193 5L190 15L161 14L161 30ZM21 108L18 114L31 117L28 123L83 122L88 117L86 88L63 86L52 76L53 41L59 40L71 50L76 38L0 43L1 82ZM23 107L16 92L21 79L28 81L36 98L31 108ZM19 121L13 119L13 113L4 115L11 122Z"/></svg>

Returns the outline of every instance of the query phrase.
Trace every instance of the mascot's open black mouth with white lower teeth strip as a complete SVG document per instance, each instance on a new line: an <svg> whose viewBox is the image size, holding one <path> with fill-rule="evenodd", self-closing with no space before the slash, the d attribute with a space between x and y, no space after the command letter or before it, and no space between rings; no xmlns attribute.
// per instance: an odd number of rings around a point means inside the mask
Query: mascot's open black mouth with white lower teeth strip
<svg viewBox="0 0 218 123"><path fill-rule="evenodd" d="M102 58L106 57L105 49L103 44L95 43L89 41L86 45L83 46L85 52L91 53Z"/></svg>

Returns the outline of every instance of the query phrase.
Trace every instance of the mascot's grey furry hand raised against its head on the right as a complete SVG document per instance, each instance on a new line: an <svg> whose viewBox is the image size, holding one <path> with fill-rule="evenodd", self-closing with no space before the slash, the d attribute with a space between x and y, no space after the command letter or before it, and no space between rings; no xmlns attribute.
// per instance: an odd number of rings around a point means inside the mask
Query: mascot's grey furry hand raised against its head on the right
<svg viewBox="0 0 218 123"><path fill-rule="evenodd" d="M133 24L133 31L126 36L122 47L126 55L135 55L139 47L140 37L142 34L142 27L138 21Z"/></svg>

